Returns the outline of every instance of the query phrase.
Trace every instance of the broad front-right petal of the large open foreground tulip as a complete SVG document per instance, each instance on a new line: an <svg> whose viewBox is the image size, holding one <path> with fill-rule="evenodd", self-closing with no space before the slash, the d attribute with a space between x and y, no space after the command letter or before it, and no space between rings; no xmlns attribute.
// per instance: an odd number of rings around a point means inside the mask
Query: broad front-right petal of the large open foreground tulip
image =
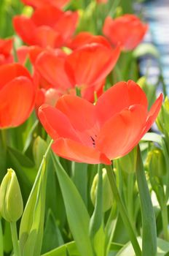
<svg viewBox="0 0 169 256"><path fill-rule="evenodd" d="M109 159L127 154L141 139L147 110L133 105L110 118L101 128L95 146Z"/></svg>

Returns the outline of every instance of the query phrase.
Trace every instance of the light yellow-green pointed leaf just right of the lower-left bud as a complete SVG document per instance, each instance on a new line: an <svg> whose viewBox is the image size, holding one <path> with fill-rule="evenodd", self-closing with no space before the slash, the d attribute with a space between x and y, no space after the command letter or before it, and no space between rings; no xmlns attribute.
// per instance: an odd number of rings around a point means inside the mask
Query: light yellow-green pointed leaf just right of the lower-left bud
<svg viewBox="0 0 169 256"><path fill-rule="evenodd" d="M24 256L39 256L41 252L47 181L46 157L51 143L42 159L20 222L20 251Z"/></svg>

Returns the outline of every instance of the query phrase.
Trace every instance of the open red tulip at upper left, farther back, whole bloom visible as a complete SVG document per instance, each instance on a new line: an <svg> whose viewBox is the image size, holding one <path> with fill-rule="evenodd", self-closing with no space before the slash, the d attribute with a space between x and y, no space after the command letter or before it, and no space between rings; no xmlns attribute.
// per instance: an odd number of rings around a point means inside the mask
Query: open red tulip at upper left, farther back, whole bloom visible
<svg viewBox="0 0 169 256"><path fill-rule="evenodd" d="M47 5L36 9L31 18L17 15L13 19L15 31L28 45L59 48L72 37L78 21L77 12L63 12Z"/></svg>

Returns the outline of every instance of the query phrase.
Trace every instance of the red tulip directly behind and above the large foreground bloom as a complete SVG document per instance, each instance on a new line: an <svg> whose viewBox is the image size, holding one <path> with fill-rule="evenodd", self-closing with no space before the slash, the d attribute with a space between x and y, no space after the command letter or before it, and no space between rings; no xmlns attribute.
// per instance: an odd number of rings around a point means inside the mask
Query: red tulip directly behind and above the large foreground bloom
<svg viewBox="0 0 169 256"><path fill-rule="evenodd" d="M106 76L114 68L119 57L119 47L91 43L74 50L68 56L41 53L35 69L52 88L61 94L76 94L79 87L82 97L93 102L94 91L103 91Z"/></svg>

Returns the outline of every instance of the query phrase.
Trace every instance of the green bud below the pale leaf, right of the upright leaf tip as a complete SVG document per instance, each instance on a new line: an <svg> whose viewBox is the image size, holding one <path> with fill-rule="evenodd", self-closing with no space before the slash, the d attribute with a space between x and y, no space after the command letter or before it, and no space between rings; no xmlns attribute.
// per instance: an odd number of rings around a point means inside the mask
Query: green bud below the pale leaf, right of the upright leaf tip
<svg viewBox="0 0 169 256"><path fill-rule="evenodd" d="M165 176L167 168L164 154L160 148L154 148L152 151L149 151L146 158L146 167L151 176Z"/></svg>

